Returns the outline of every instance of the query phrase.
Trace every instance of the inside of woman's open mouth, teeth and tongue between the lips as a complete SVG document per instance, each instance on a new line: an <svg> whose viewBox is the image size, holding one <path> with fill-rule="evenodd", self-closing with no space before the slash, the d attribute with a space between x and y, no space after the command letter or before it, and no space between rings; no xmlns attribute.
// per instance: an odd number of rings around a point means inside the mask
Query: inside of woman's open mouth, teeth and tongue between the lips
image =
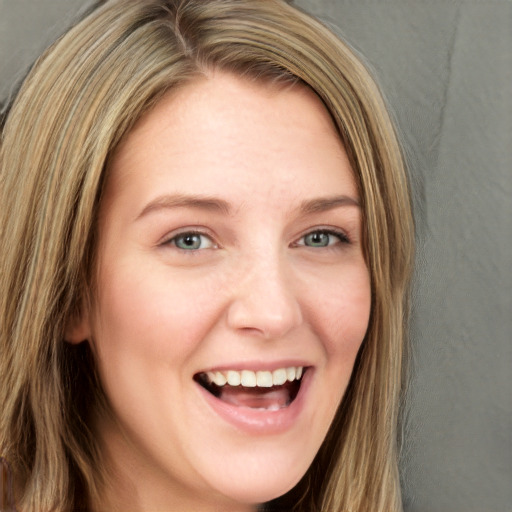
<svg viewBox="0 0 512 512"><path fill-rule="evenodd" d="M231 405L278 411L295 400L307 370L294 366L274 371L201 372L194 376L194 380L213 396Z"/></svg>

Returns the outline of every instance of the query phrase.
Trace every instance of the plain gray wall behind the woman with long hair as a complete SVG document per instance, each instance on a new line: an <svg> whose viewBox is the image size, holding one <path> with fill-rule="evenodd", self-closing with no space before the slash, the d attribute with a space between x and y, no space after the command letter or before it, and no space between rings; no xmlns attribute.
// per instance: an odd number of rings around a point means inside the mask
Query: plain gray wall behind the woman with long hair
<svg viewBox="0 0 512 512"><path fill-rule="evenodd" d="M512 511L512 1L297 3L365 55L409 157L405 510ZM0 0L0 98L84 5Z"/></svg>

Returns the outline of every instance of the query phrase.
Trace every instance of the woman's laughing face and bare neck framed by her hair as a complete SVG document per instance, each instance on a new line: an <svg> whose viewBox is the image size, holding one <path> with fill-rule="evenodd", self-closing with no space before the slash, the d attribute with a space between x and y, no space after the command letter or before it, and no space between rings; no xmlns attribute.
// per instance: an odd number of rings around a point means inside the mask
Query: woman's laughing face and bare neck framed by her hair
<svg viewBox="0 0 512 512"><path fill-rule="evenodd" d="M250 510L288 491L370 313L358 192L319 99L222 73L168 95L114 156L98 250L82 327L116 420L97 425L111 499Z"/></svg>

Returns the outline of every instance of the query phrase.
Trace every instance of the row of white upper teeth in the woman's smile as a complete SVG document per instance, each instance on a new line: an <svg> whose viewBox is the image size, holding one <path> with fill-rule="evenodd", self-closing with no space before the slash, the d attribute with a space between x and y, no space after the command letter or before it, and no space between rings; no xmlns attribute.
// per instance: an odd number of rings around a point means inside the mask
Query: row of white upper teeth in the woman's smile
<svg viewBox="0 0 512 512"><path fill-rule="evenodd" d="M289 368L278 368L273 372L252 370L227 370L225 372L208 372L208 381L217 386L244 386L246 388L271 388L281 386L286 381L292 382L302 377L303 366L291 366Z"/></svg>

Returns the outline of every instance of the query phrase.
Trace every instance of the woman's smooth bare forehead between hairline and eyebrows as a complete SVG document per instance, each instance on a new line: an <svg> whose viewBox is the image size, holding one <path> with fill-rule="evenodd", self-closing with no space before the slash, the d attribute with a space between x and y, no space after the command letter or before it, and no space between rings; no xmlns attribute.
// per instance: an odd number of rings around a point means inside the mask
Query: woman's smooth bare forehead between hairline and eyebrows
<svg viewBox="0 0 512 512"><path fill-rule="evenodd" d="M224 73L171 91L125 137L107 188L117 194L133 181L141 195L195 188L248 197L255 184L285 195L340 186L357 195L331 116L310 89Z"/></svg>

